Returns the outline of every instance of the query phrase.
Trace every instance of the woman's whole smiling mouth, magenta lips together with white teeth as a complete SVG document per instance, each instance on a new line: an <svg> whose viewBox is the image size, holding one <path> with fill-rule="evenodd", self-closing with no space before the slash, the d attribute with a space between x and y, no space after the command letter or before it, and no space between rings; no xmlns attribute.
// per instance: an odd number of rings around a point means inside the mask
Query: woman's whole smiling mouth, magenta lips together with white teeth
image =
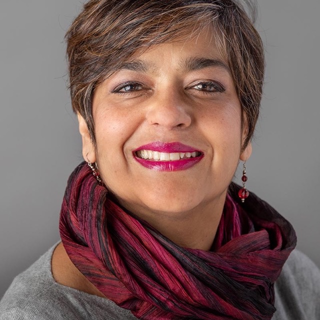
<svg viewBox="0 0 320 320"><path fill-rule="evenodd" d="M180 142L151 142L132 152L144 167L156 171L185 170L203 158L203 152Z"/></svg>

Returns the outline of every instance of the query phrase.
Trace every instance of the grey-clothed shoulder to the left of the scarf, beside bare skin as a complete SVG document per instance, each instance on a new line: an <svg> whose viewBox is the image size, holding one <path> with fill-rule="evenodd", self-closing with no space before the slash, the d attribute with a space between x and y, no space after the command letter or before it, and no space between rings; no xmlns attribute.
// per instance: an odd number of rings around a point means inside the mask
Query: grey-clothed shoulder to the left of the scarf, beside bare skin
<svg viewBox="0 0 320 320"><path fill-rule="evenodd" d="M14 278L0 301L0 320L136 319L110 300L56 283L54 247Z"/></svg>

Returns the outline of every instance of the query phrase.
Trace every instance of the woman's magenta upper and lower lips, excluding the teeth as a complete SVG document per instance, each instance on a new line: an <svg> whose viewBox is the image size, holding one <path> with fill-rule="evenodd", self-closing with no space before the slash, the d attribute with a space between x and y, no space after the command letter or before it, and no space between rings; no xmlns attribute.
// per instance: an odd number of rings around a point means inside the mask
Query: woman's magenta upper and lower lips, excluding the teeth
<svg viewBox="0 0 320 320"><path fill-rule="evenodd" d="M158 152L166 152L166 153L174 153L174 152L199 152L200 155L196 157L190 157L186 159L180 160L171 160L171 161L159 161L159 160L148 160L142 159L136 156L136 151L138 150L150 150L150 151L158 151ZM155 170L155 171L179 171L185 170L196 163L198 163L203 158L203 152L190 146L180 142L151 142L144 145L139 146L138 148L132 151L134 159L143 165L144 167Z"/></svg>

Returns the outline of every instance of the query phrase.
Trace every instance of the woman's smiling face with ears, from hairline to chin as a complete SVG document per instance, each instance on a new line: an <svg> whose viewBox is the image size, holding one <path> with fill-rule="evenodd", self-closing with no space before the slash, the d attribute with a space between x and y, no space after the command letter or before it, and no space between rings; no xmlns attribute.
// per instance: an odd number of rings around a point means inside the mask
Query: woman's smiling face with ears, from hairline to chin
<svg viewBox="0 0 320 320"><path fill-rule="evenodd" d="M121 205L135 214L183 216L223 206L246 127L214 36L136 53L97 86L96 148L79 118L83 157L96 161Z"/></svg>

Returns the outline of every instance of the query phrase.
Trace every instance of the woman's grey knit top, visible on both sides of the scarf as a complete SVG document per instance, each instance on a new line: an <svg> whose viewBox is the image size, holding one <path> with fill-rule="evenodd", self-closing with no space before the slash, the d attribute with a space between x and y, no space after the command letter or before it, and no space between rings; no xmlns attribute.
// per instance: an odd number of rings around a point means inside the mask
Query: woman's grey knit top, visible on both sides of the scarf
<svg viewBox="0 0 320 320"><path fill-rule="evenodd" d="M0 301L0 320L137 320L110 300L56 283L54 247L14 278ZM297 250L275 283L275 307L272 320L320 320L320 270Z"/></svg>

